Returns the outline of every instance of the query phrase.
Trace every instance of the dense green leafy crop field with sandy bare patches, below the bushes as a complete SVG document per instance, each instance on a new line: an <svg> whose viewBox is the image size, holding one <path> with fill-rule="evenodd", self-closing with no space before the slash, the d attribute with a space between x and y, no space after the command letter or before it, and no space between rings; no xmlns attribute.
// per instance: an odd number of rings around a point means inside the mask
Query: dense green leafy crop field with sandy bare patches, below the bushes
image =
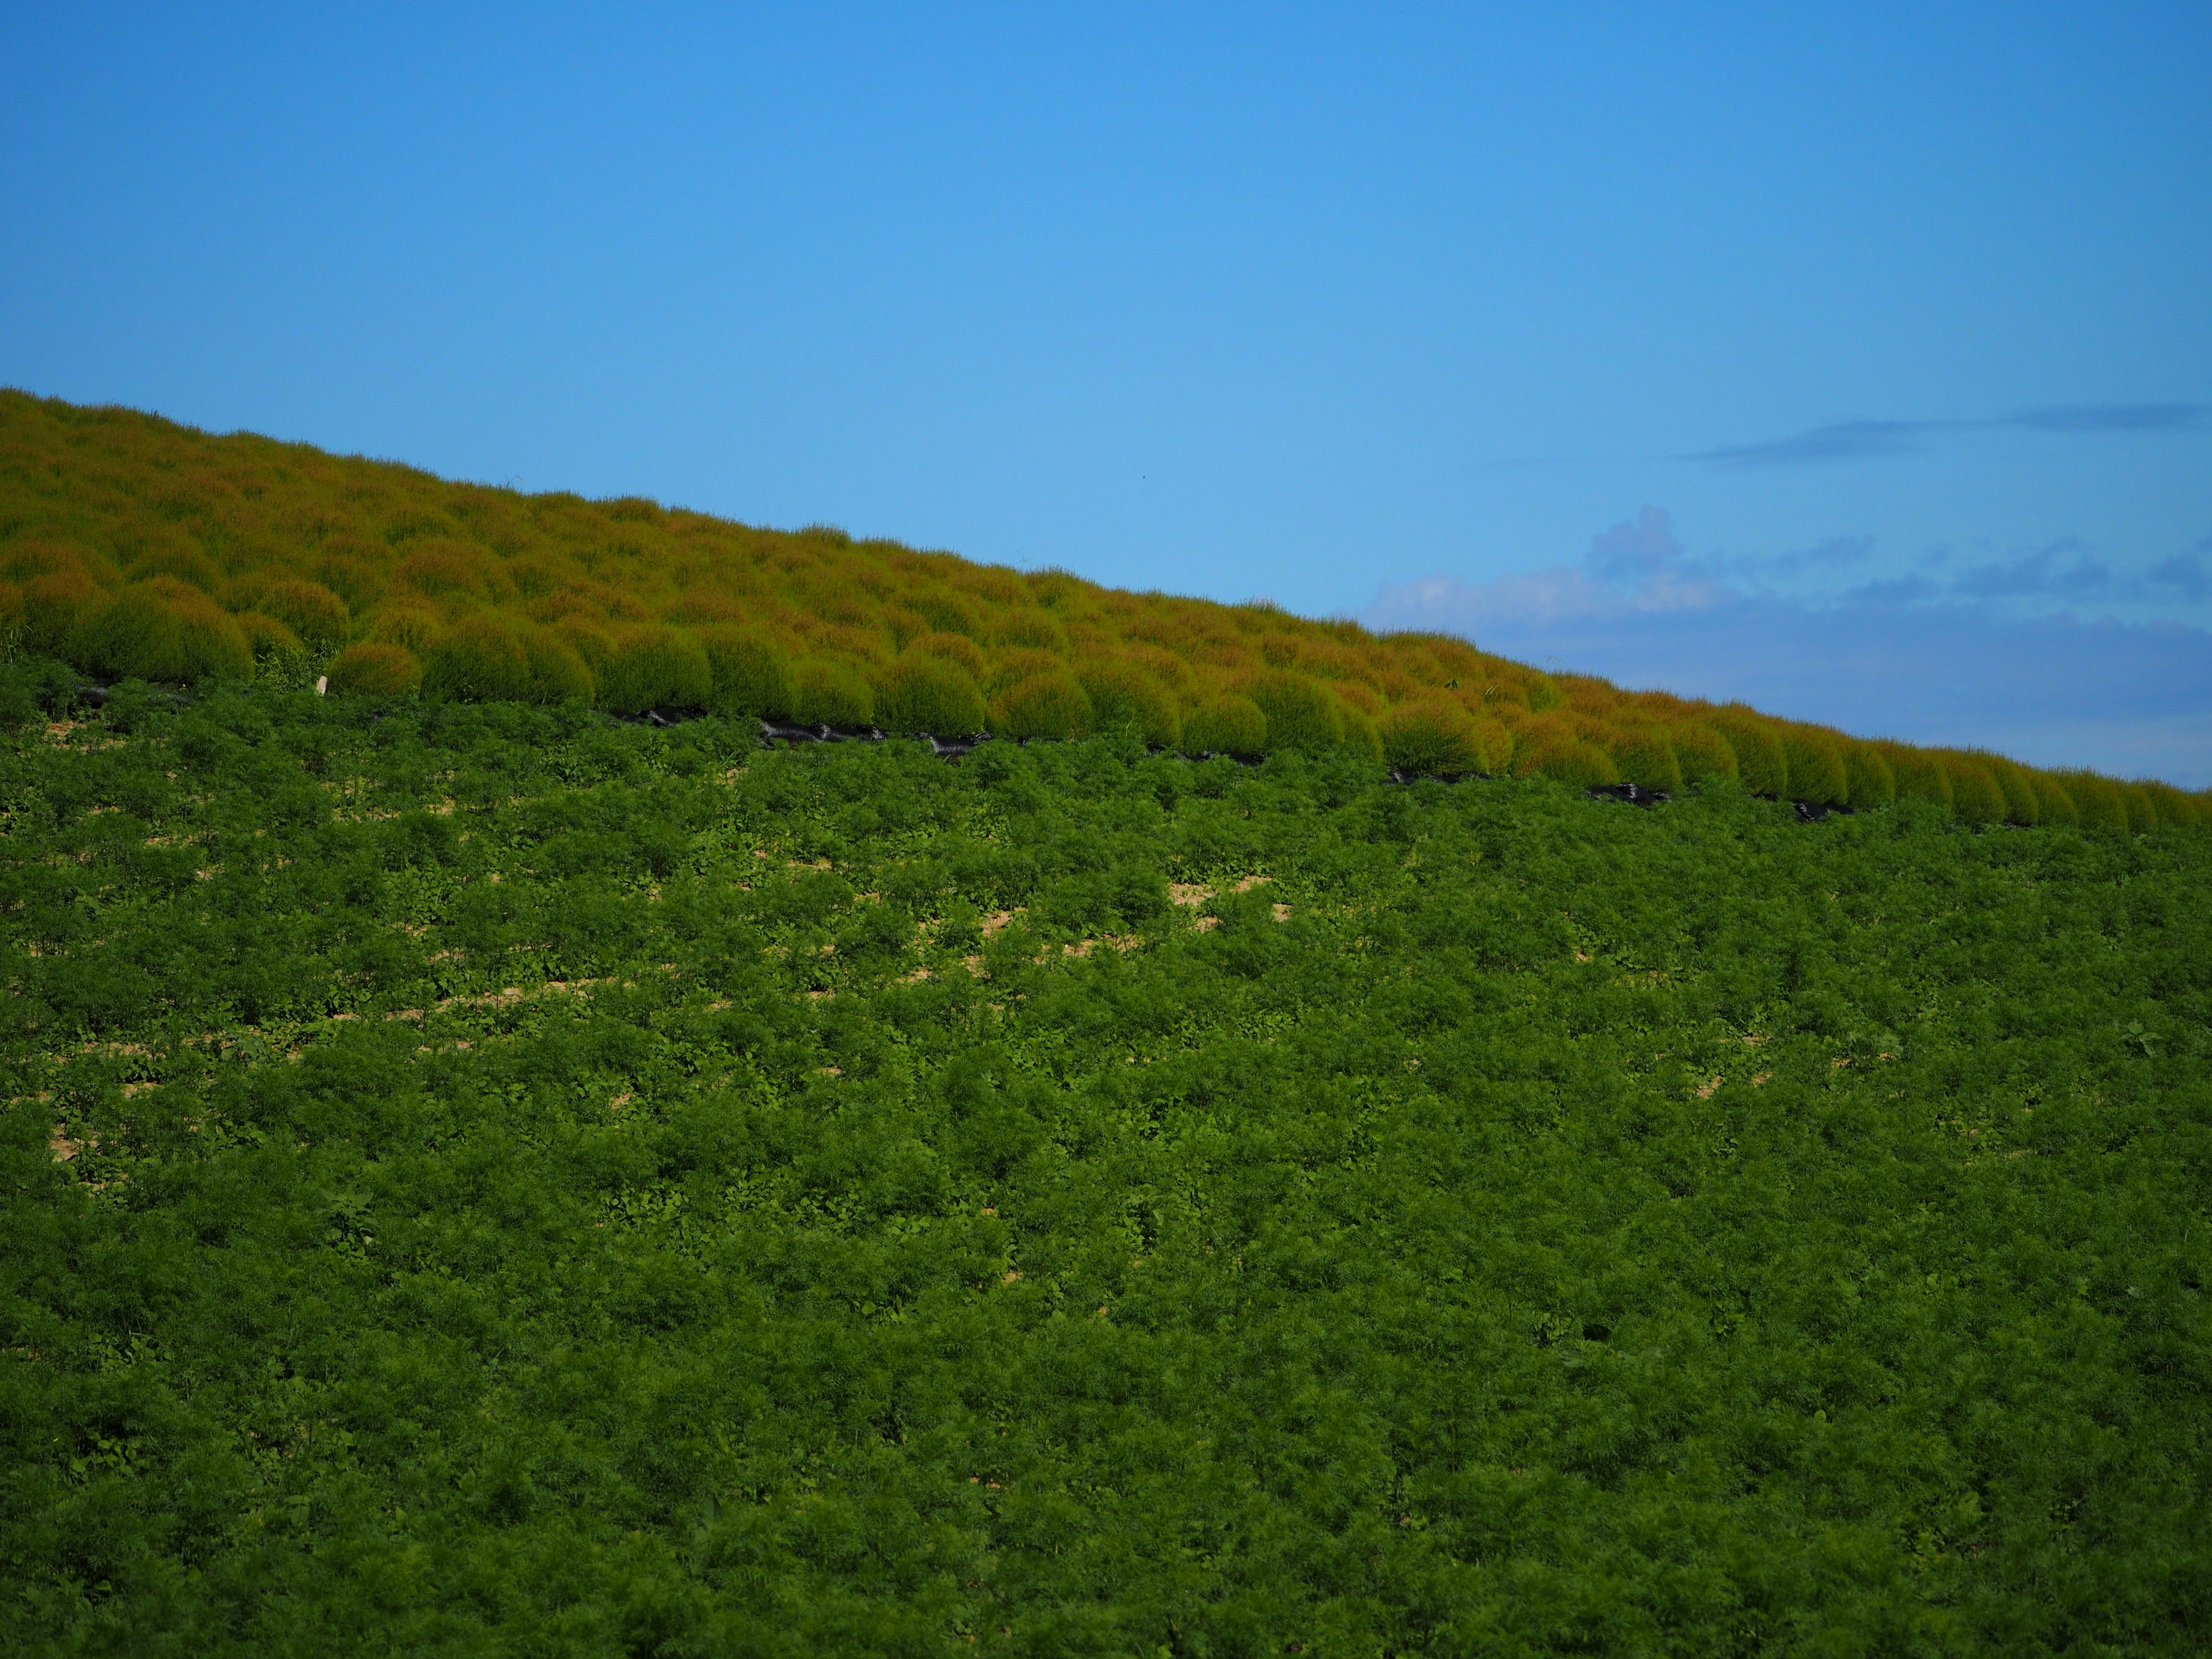
<svg viewBox="0 0 2212 1659"><path fill-rule="evenodd" d="M2212 1621L2201 832L265 688L0 783L0 1646Z"/></svg>

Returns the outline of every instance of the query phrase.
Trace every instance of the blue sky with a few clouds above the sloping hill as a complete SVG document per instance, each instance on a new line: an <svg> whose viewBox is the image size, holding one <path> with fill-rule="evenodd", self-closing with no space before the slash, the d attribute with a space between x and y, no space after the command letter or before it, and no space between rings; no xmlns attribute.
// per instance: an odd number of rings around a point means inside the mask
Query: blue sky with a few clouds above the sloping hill
<svg viewBox="0 0 2212 1659"><path fill-rule="evenodd" d="M0 4L0 383L2201 785L2208 62L2203 4Z"/></svg>

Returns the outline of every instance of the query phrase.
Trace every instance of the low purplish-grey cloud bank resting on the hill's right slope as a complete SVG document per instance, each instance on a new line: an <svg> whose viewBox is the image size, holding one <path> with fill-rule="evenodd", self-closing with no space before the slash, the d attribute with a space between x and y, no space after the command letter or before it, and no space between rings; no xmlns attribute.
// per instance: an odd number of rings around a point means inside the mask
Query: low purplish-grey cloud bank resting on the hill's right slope
<svg viewBox="0 0 2212 1659"><path fill-rule="evenodd" d="M1590 538L1575 566L1385 584L1360 619L1867 734L2212 783L2212 630L2172 619L2212 599L2212 538L2148 571L2112 568L2075 540L1991 560L1940 553L1851 582L1871 562L1871 538L1699 555L1646 507ZM2077 615L2112 599L2168 619Z"/></svg>

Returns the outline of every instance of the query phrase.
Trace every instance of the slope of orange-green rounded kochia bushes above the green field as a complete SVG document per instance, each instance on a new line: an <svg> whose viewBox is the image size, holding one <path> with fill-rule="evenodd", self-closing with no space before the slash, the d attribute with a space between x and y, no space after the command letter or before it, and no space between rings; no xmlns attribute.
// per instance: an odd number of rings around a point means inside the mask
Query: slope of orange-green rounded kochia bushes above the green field
<svg viewBox="0 0 2212 1659"><path fill-rule="evenodd" d="M1079 737L1409 774L1628 781L1962 823L2146 832L2212 796L1916 750L1438 635L1369 635L1022 575L841 531L453 484L265 438L0 392L0 633L102 681L714 708L891 732Z"/></svg>

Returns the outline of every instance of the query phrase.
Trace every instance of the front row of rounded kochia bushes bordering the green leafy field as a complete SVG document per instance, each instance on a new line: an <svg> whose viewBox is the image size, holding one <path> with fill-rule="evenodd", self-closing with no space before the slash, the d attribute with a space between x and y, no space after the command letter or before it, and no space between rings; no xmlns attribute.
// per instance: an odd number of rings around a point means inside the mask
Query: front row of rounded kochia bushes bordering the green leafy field
<svg viewBox="0 0 2212 1659"><path fill-rule="evenodd" d="M22 635L27 622L24 595L0 586L0 630ZM80 668L144 679L243 679L257 661L263 670L290 664L294 675L321 666L341 697L712 708L947 737L1071 739L1135 726L1148 743L1190 754L1349 748L1447 779L1537 774L1661 792L1732 779L1752 794L1854 810L1918 796L1969 825L2212 825L2212 801L2161 783L1863 741L1743 706L1637 699L1595 681L1577 681L1593 688L1577 708L1540 675L1491 701L1429 688L1369 714L1360 701L1371 703L1371 695L1338 695L1314 675L1245 672L1188 699L1115 655L1011 650L987 659L958 633L920 635L889 664L792 659L776 639L739 624L538 626L476 611L449 626L425 619L396 633L352 639L345 604L305 580L270 582L254 611L230 613L190 584L155 577L82 606L62 639L42 644L58 644ZM1652 719L1652 710L1668 717Z"/></svg>

